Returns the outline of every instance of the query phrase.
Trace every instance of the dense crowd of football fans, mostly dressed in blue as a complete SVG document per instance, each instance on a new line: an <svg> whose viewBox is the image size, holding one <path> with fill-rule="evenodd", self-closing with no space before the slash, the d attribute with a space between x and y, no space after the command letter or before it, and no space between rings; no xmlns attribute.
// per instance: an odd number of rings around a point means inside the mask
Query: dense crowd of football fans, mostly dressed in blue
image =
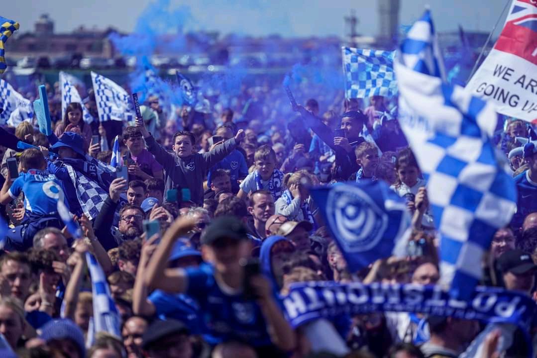
<svg viewBox="0 0 537 358"><path fill-rule="evenodd" d="M244 88L227 98L227 107L215 97L209 99L211 111L185 106L175 113L153 96L133 123L99 123L90 93L83 104L95 118L90 124L82 119L81 104L69 104L60 118L51 101L53 135L42 135L27 121L0 129L0 203L10 224L0 257L5 342L27 357L462 353L482 323L395 312L324 319L296 329L287 322L280 297L296 282L426 285L435 284L440 272L426 182L398 125L395 103L376 96L365 108L360 100L328 91L295 113L280 92ZM527 143L528 123L507 119L504 128L496 141L517 184L518 209L492 239L482 284L537 299L537 149ZM91 158L109 168L118 134L128 180L106 180L99 172L101 181L94 181L103 191L101 206L88 214L72 169ZM98 142L92 141L96 135ZM18 141L39 149L20 151ZM16 179L10 158L17 160ZM413 231L406 258L379 260L354 273L309 188L364 180L384 180L406 200ZM64 227L58 200L84 239L74 240ZM144 220L157 221L159 232L148 237ZM107 275L121 337L94 332L86 252ZM494 334L483 357L496 356ZM525 349L516 340L505 356L525 356Z"/></svg>

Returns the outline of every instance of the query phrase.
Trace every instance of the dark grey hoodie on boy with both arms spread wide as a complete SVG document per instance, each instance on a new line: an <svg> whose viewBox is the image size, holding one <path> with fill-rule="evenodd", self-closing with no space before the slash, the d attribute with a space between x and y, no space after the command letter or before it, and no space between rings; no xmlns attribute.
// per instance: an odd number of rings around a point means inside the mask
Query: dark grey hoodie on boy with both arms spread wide
<svg viewBox="0 0 537 358"><path fill-rule="evenodd" d="M203 204L203 182L208 170L237 147L235 138L231 138L207 153L179 158L174 152L165 150L152 135L146 138L146 144L157 162L164 167L164 189L188 188L191 200L200 206Z"/></svg>

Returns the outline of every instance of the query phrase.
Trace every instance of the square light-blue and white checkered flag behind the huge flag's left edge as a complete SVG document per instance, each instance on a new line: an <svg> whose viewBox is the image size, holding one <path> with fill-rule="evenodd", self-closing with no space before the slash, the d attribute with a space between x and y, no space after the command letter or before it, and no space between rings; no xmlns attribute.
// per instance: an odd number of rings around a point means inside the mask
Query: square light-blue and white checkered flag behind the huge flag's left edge
<svg viewBox="0 0 537 358"><path fill-rule="evenodd" d="M397 93L393 51L342 47L345 98L391 97Z"/></svg>

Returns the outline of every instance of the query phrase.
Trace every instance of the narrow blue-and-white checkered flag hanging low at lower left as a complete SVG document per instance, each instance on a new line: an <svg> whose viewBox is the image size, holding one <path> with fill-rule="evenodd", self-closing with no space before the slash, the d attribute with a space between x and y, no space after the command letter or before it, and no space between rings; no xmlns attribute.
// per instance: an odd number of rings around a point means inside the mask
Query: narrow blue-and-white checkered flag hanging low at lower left
<svg viewBox="0 0 537 358"><path fill-rule="evenodd" d="M86 262L88 262L91 276L91 293L93 295L93 334L88 334L88 338L95 339L97 332L107 332L115 337L121 337L121 318L112 299L103 268L89 252L86 252ZM86 345L88 344L91 345L93 342L86 342Z"/></svg>

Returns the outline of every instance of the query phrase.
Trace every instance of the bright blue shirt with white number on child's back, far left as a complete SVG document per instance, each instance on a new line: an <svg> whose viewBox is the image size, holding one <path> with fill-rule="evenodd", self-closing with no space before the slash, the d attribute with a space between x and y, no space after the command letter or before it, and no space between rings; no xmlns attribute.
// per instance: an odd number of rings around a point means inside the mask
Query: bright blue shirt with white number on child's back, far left
<svg viewBox="0 0 537 358"><path fill-rule="evenodd" d="M20 192L25 196L24 207L33 214L55 214L58 211L58 199L64 200L59 180L47 171L30 169L27 173L20 173L8 193L16 199Z"/></svg>

